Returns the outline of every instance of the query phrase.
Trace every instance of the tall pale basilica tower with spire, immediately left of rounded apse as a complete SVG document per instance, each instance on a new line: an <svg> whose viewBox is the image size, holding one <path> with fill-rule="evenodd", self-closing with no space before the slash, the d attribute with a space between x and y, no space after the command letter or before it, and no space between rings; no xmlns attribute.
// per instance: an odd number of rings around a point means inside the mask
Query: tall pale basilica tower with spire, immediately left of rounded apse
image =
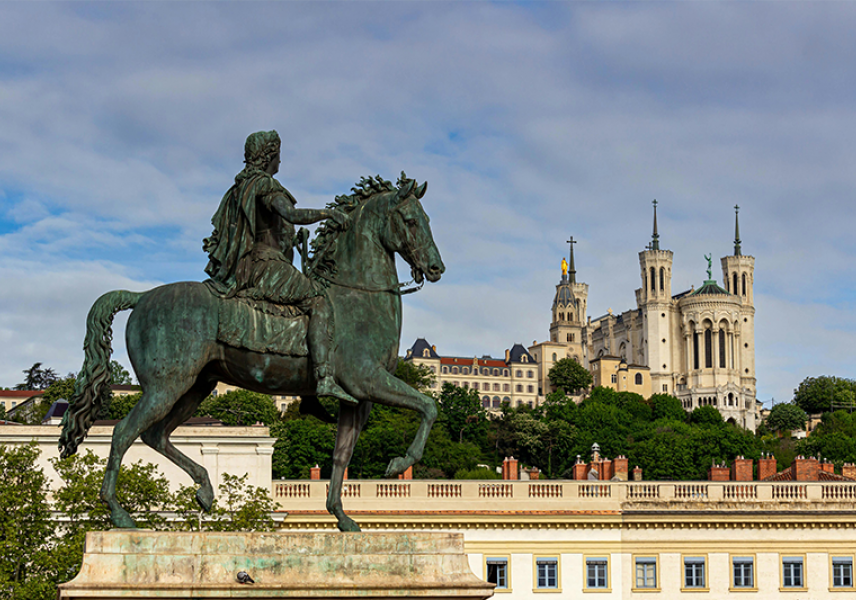
<svg viewBox="0 0 856 600"><path fill-rule="evenodd" d="M642 288L636 293L642 313L641 362L651 369L654 393L671 392L674 384L672 258L671 250L660 249L657 201L654 200L654 231L651 243L639 253Z"/></svg>

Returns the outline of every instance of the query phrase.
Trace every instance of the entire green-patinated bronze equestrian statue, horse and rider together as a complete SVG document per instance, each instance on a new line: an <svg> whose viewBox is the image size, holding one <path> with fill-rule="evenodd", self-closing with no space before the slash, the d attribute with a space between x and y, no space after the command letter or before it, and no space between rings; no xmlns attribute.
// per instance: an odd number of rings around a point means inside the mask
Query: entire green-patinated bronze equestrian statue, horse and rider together
<svg viewBox="0 0 856 600"><path fill-rule="evenodd" d="M99 298L87 318L85 360L63 419L63 456L77 451L110 394L113 316L133 309L127 325L128 355L143 395L118 423L101 498L117 527L133 527L116 499L122 458L137 437L199 485L209 509L214 492L207 471L178 451L169 436L194 413L218 381L277 395L341 401L327 509L339 529L359 527L342 509L344 471L372 403L420 413L405 456L387 475L404 472L422 457L437 416L434 400L395 378L401 334L401 294L395 254L411 267L417 284L437 281L445 270L420 199L420 186L404 173L396 185L363 178L352 194L321 210L297 209L273 175L279 136L247 139L246 168L235 179L205 240L210 262L204 283L182 282L148 292L114 291ZM305 274L292 265L293 247L304 244L295 224L324 221L304 256Z"/></svg>

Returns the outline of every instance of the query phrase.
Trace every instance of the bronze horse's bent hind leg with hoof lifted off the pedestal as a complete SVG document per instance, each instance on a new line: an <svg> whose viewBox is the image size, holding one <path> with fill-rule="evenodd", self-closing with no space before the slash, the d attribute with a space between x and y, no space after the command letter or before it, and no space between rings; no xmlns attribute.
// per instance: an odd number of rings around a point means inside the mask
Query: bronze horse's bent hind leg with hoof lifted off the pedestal
<svg viewBox="0 0 856 600"><path fill-rule="evenodd" d="M199 486L199 489L196 490L196 501L205 512L209 512L214 503L214 488L211 486L208 471L176 448L169 436L176 427L193 416L202 401L215 387L216 383L197 381L196 385L175 403L175 406L164 419L149 427L140 436L149 447L167 457L182 471L190 475L194 483Z"/></svg>

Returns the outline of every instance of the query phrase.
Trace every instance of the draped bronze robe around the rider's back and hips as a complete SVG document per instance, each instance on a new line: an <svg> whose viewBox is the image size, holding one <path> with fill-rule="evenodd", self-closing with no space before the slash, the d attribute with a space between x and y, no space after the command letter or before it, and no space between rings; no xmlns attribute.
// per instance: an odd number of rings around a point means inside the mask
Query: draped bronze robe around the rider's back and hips
<svg viewBox="0 0 856 600"><path fill-rule="evenodd" d="M235 178L211 219L214 233L205 240L209 262L206 283L224 297L300 306L324 293L292 264L294 225L273 207L294 197L271 175L245 169Z"/></svg>

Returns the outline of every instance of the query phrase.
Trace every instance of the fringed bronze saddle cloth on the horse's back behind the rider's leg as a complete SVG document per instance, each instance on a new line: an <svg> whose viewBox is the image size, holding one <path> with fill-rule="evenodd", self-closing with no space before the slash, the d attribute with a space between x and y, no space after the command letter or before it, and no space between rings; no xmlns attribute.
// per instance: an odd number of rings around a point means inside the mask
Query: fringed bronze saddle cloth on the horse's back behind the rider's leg
<svg viewBox="0 0 856 600"><path fill-rule="evenodd" d="M233 348L263 354L309 356L308 318L294 306L250 298L221 298L217 340Z"/></svg>

